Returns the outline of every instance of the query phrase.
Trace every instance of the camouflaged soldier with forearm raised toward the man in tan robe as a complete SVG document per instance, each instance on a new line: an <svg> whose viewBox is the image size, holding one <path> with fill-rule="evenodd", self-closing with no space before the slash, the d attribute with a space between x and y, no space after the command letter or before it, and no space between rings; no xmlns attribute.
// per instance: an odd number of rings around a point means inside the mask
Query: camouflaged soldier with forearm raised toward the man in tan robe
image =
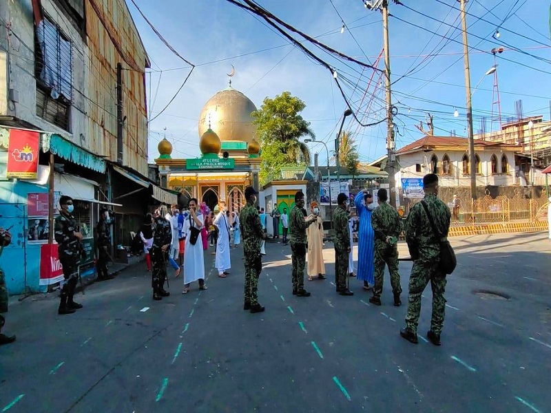
<svg viewBox="0 0 551 413"><path fill-rule="evenodd" d="M304 193L295 193L295 206L289 215L289 240L291 242L291 261L293 263L293 295L298 297L310 297L310 293L304 290L304 266L306 265L306 228L315 222L315 216L305 217Z"/></svg>

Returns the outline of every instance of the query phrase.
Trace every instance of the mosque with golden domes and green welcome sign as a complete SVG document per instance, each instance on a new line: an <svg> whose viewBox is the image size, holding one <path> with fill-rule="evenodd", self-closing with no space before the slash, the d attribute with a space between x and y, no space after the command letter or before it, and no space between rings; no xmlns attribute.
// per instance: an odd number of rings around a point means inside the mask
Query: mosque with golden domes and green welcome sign
<svg viewBox="0 0 551 413"><path fill-rule="evenodd" d="M260 191L260 144L251 113L254 103L231 87L212 96L199 116L200 158L173 159L172 145L164 138L158 144L161 187L180 193L180 202L197 198L210 209L225 201L229 209L245 205L245 188Z"/></svg>

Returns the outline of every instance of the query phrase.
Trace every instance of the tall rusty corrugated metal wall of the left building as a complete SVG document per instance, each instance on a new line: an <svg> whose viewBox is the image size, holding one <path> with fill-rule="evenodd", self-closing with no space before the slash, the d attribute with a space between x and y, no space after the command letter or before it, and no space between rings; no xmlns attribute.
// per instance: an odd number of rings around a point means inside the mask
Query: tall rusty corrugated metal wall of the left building
<svg viewBox="0 0 551 413"><path fill-rule="evenodd" d="M125 0L86 0L92 147L116 156L116 65L123 65L123 165L147 176L147 54Z"/></svg>

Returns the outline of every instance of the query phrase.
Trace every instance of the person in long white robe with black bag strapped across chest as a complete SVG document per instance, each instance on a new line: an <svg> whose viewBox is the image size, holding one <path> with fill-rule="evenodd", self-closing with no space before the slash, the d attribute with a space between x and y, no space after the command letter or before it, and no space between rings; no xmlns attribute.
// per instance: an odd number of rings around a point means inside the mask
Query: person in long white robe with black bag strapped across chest
<svg viewBox="0 0 551 413"><path fill-rule="evenodd" d="M206 290L205 285L205 260L203 259L202 241L200 230L202 229L205 217L202 216L200 209L197 208L197 199L189 200L189 215L184 222L183 231L187 234L185 237L184 251L184 290L182 294L189 293L189 284L199 281L199 289ZM197 237L195 244L191 244L191 228L195 228Z"/></svg>

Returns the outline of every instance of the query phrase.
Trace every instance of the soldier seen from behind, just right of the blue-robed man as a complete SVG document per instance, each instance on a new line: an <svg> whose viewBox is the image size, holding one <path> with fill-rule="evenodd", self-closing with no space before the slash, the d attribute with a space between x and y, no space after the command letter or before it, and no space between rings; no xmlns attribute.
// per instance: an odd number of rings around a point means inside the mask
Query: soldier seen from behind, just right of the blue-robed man
<svg viewBox="0 0 551 413"><path fill-rule="evenodd" d="M388 193L386 189L379 189L377 192L379 207L375 208L371 214L371 226L375 233L375 286L373 287L373 297L369 299L375 306L381 305L381 293L384 283L384 265L388 266L388 272L391 273L391 285L394 295L394 305L402 305L400 294L400 275L398 273L398 236L402 232L402 219L394 207L387 204Z"/></svg>

